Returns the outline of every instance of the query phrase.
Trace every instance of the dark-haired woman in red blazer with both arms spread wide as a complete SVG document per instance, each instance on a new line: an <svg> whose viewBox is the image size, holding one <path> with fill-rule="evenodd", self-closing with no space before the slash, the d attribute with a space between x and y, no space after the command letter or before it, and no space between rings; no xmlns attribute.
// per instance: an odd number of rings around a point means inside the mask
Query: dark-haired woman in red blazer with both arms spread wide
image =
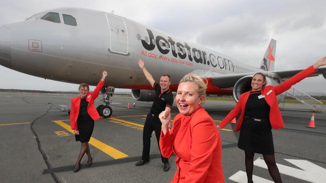
<svg viewBox="0 0 326 183"><path fill-rule="evenodd" d="M245 151L248 182L252 181L253 157L262 153L269 173L275 182L282 182L275 163L274 144L271 128L284 126L276 95L288 90L293 84L316 72L316 68L326 64L326 57L295 74L276 86L266 85L266 76L258 72L251 80L251 90L240 95L238 103L221 121L223 128L241 111L235 131L240 130L238 147Z"/></svg>

